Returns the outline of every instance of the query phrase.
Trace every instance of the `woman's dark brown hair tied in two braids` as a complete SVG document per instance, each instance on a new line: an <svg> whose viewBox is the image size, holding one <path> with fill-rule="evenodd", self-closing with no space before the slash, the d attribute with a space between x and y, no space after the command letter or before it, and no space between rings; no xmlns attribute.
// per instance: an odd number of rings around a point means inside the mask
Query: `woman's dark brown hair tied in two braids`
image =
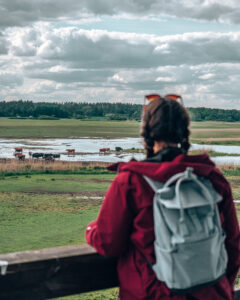
<svg viewBox="0 0 240 300"><path fill-rule="evenodd" d="M145 141L147 158L154 155L154 141L179 144L183 153L187 153L189 144L190 118L186 109L170 98L161 98L150 102L144 112L141 136Z"/></svg>

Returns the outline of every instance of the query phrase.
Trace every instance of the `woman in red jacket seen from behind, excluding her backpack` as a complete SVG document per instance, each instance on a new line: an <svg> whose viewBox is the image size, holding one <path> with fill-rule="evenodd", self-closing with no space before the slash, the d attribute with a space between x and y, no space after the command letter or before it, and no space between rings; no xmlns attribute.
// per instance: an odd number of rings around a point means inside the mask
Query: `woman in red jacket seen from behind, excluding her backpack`
<svg viewBox="0 0 240 300"><path fill-rule="evenodd" d="M118 171L118 175L106 194L97 220L87 227L87 242L100 254L119 258L120 299L233 299L234 280L240 265L240 233L230 185L207 154L187 155L190 132L184 107L170 97L155 95L154 98L145 107L141 129L147 158L109 168ZM166 182L187 166L209 179L223 197L219 211L229 259L226 276L216 284L179 296L157 280L150 265L155 263L154 193L143 175Z"/></svg>

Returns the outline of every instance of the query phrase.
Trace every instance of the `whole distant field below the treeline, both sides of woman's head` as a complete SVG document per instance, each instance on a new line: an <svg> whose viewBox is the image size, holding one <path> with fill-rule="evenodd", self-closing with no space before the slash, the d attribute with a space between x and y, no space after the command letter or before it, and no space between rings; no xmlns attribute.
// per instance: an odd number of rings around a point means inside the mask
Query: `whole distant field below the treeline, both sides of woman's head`
<svg viewBox="0 0 240 300"><path fill-rule="evenodd" d="M1 138L138 137L137 121L18 120L0 118ZM192 122L191 139L204 143L240 144L240 123Z"/></svg>

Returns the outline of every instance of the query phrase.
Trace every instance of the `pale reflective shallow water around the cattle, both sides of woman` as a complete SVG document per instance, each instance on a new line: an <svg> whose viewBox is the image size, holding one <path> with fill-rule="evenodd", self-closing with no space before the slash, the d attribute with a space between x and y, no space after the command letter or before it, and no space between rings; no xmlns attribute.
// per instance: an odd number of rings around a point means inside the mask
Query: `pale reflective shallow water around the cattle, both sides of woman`
<svg viewBox="0 0 240 300"><path fill-rule="evenodd" d="M81 139L0 139L0 158L13 158L14 148L22 147L26 158L29 157L29 152L42 153L60 153L61 160L68 161L105 161L118 162L129 161L133 157L137 160L144 159L144 155L140 153L127 154L116 153L99 155L100 148L110 148L115 150L115 147L123 149L143 148L140 138L124 138L124 139L100 139L100 138L81 138ZM75 156L68 156L66 149L75 149L81 153ZM239 164L240 165L240 146L221 146L221 145L192 145L193 150L197 149L212 149L216 152L239 154L236 156L218 156L212 158L217 164Z"/></svg>

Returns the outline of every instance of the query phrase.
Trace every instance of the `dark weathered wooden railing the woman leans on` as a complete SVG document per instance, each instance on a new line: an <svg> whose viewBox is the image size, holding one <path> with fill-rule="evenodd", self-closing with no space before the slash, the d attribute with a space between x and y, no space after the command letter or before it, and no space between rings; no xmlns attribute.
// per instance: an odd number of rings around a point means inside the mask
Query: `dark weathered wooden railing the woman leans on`
<svg viewBox="0 0 240 300"><path fill-rule="evenodd" d="M116 260L87 245L1 254L1 265L1 300L51 299L118 286Z"/></svg>

